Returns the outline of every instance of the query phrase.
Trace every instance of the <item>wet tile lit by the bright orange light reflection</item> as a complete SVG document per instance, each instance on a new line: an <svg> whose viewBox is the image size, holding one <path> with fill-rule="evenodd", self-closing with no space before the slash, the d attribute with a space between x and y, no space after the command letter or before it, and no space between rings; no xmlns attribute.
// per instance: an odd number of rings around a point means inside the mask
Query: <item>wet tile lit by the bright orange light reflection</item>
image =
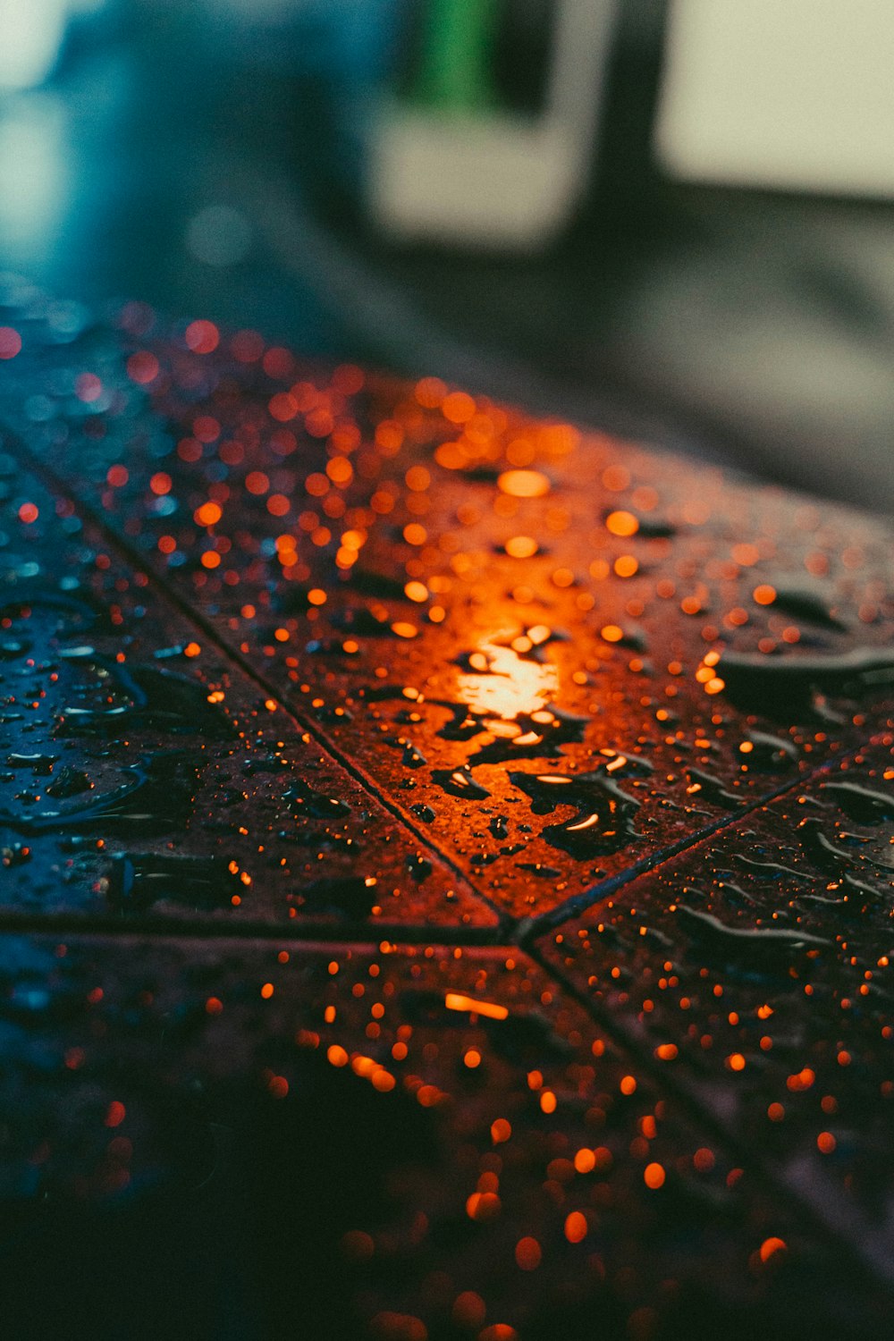
<svg viewBox="0 0 894 1341"><path fill-rule="evenodd" d="M121 320L52 374L46 322L21 323L29 448L512 913L590 897L883 720L881 524L432 380Z"/></svg>

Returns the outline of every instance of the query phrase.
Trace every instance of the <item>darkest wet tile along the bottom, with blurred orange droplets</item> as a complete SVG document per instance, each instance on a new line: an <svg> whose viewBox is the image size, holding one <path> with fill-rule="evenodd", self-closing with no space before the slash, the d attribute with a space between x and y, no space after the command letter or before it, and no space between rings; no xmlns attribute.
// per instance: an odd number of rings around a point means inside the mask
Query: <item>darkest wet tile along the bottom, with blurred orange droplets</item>
<svg viewBox="0 0 894 1341"><path fill-rule="evenodd" d="M515 949L7 936L0 956L7 1259L44 1281L13 1277L4 1309L27 1303L29 1336L55 1316L79 1336L101 1297L106 1334L137 1337L185 1334L184 1307L198 1337L224 1314L445 1341L882 1325L759 1161Z"/></svg>

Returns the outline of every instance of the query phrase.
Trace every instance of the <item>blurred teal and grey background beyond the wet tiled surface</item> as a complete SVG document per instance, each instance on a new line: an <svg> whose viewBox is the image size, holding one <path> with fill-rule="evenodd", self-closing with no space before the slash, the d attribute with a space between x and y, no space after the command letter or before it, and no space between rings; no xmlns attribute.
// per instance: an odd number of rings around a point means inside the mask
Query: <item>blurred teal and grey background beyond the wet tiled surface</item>
<svg viewBox="0 0 894 1341"><path fill-rule="evenodd" d="M0 0L0 270L894 511L890 0Z"/></svg>

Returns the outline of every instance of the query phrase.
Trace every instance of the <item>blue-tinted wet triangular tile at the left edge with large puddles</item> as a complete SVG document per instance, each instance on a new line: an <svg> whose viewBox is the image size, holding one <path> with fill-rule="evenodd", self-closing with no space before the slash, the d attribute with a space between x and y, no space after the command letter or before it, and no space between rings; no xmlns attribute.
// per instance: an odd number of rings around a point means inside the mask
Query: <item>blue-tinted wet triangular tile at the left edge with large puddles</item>
<svg viewBox="0 0 894 1341"><path fill-rule="evenodd" d="M496 924L71 504L0 472L0 917Z"/></svg>

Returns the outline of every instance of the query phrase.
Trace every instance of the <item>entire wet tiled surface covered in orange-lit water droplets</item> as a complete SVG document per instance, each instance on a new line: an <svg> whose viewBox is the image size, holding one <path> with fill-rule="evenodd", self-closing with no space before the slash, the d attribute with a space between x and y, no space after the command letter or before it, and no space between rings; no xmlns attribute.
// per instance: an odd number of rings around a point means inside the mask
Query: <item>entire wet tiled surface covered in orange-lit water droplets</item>
<svg viewBox="0 0 894 1341"><path fill-rule="evenodd" d="M878 1333L890 534L5 296L8 1259L185 1255L221 1341Z"/></svg>

